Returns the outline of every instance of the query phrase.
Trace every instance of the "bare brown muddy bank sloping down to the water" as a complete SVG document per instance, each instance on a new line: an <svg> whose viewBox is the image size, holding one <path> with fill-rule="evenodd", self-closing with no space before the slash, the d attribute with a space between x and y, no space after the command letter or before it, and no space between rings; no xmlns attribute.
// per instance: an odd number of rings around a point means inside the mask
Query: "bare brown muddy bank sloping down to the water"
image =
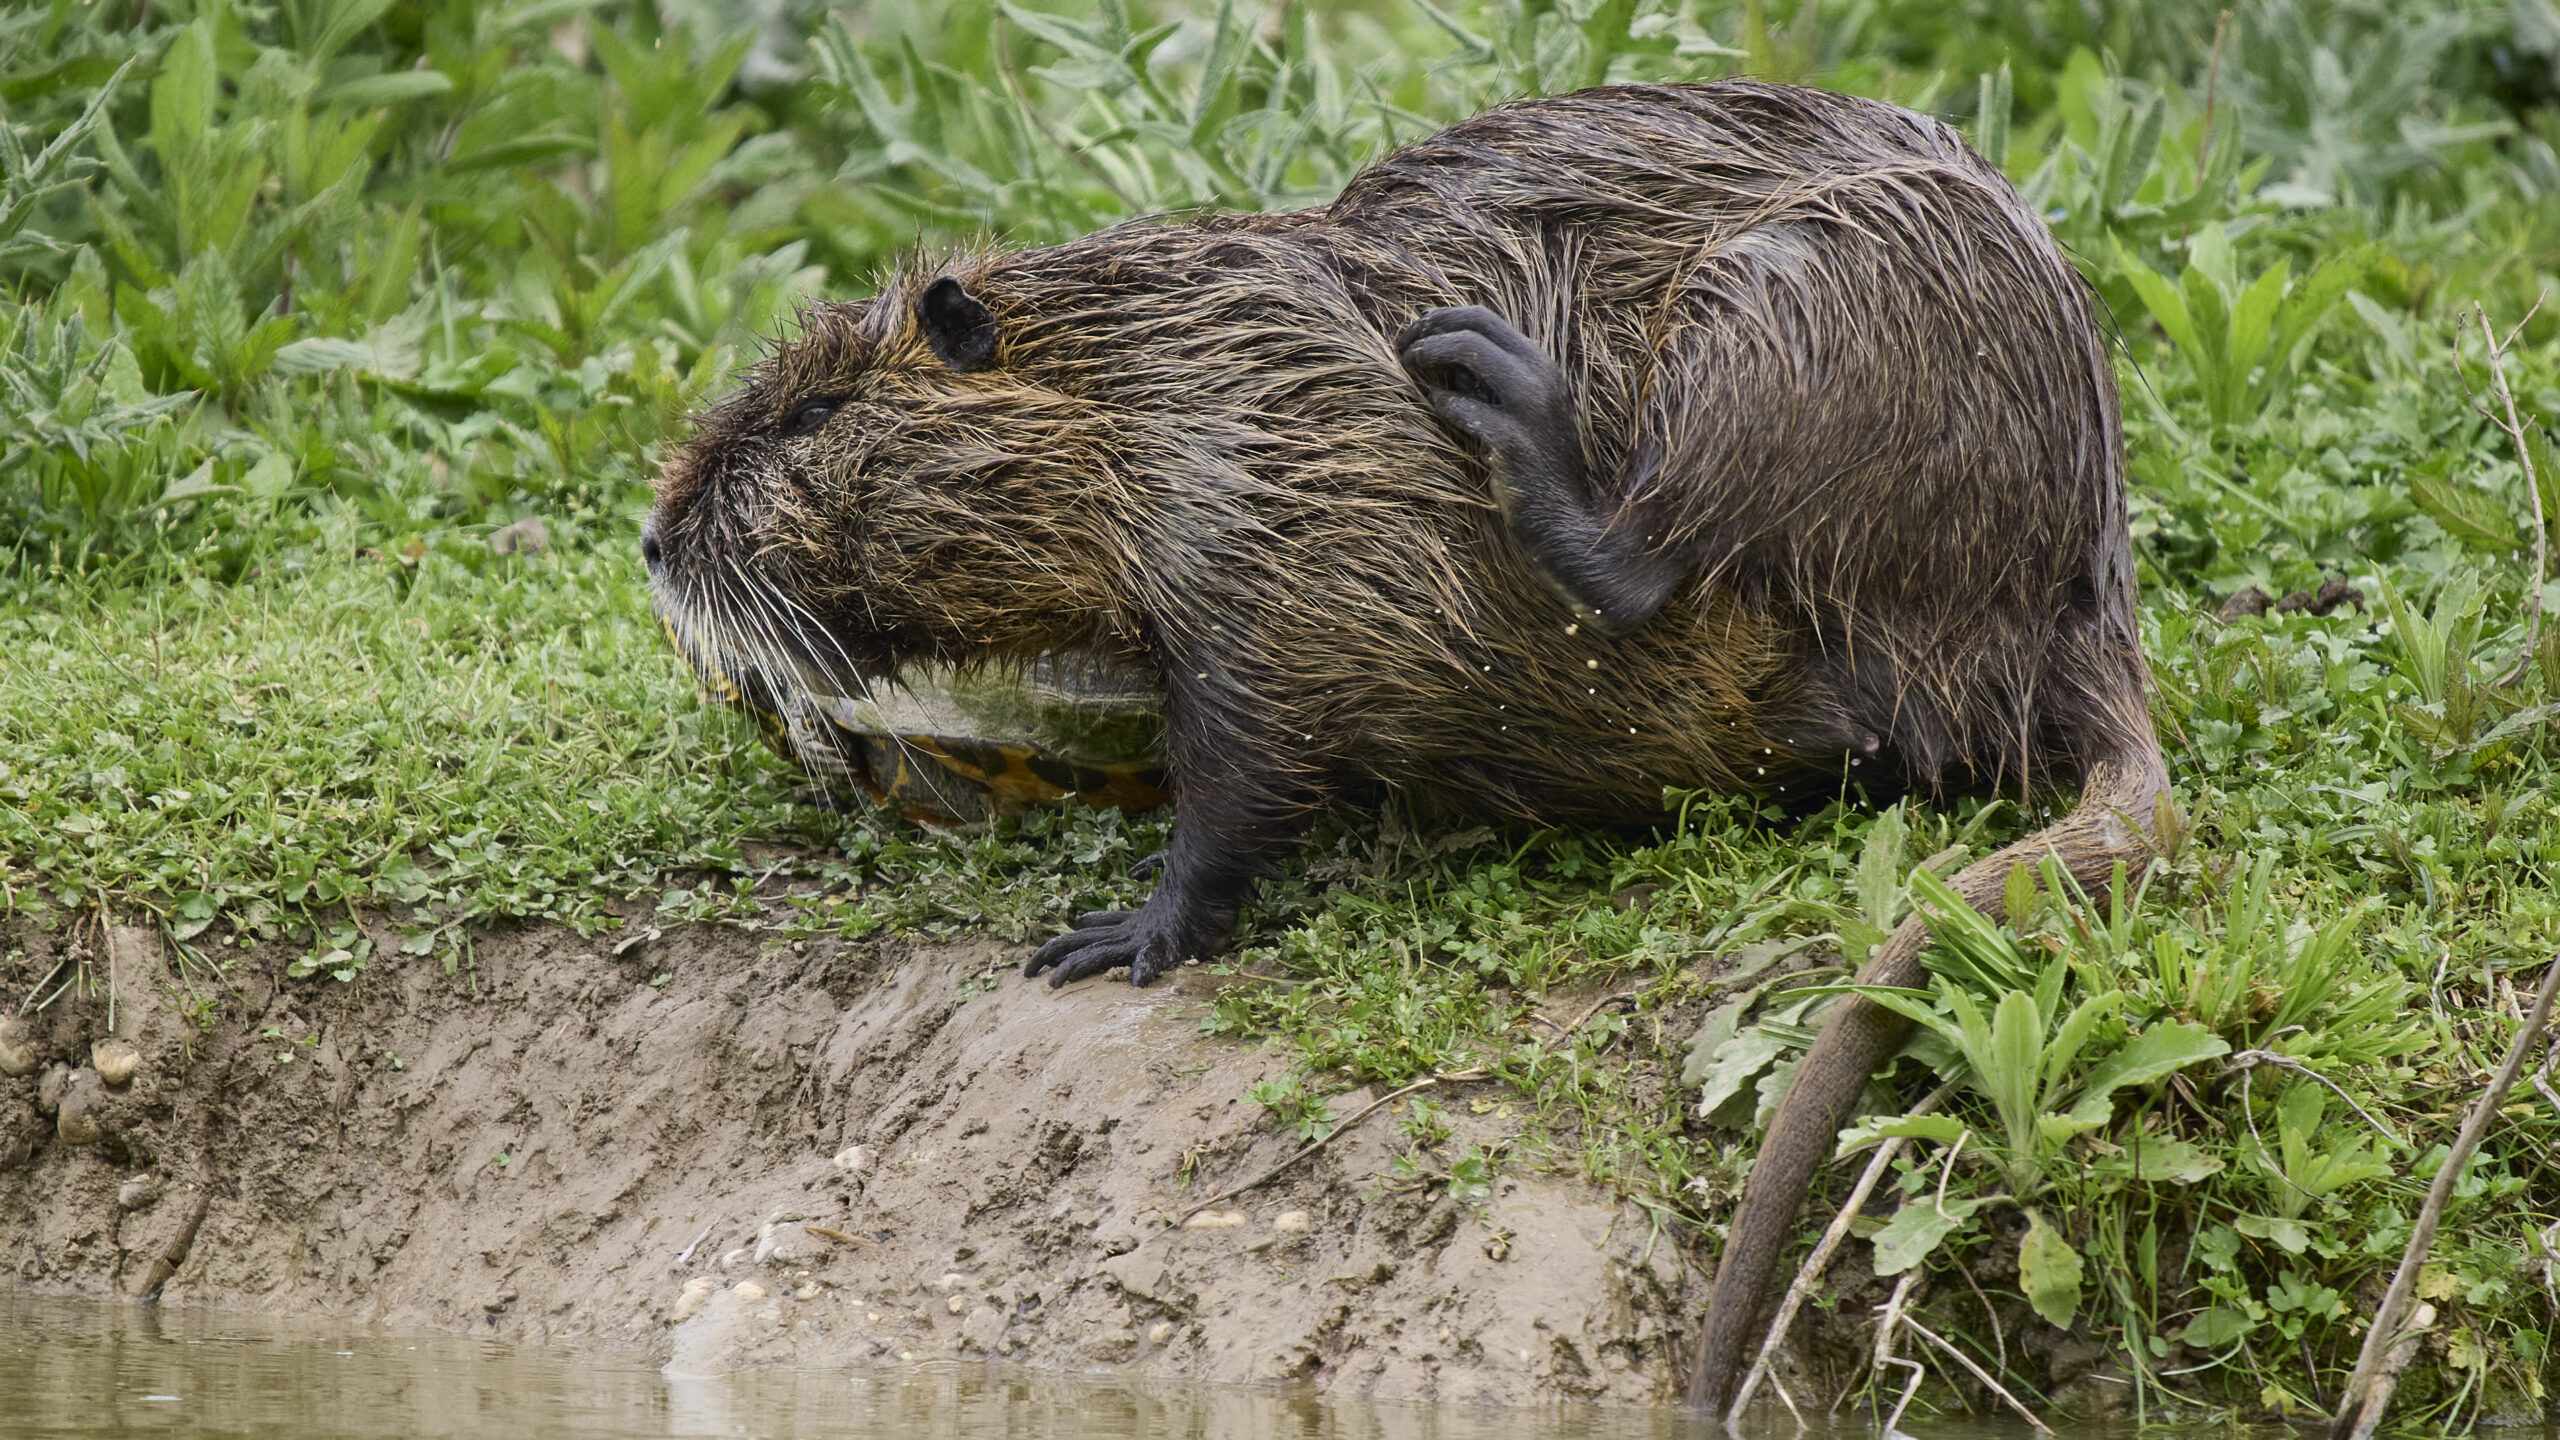
<svg viewBox="0 0 2560 1440"><path fill-rule="evenodd" d="M105 986L36 1012L0 1076L8 1284L632 1343L678 1373L1001 1355L1677 1394L1702 1276L1562 1174L1398 1189L1372 1117L1167 1227L1295 1148L1242 1099L1283 1061L1198 1033L1198 971L1057 994L993 943L612 943L507 930L476 976L384 958L356 984L243 958L187 1017L156 930L13 935L8 1002L67 956L118 984L113 1017ZM1521 1130L1446 1109L1459 1143Z"/></svg>

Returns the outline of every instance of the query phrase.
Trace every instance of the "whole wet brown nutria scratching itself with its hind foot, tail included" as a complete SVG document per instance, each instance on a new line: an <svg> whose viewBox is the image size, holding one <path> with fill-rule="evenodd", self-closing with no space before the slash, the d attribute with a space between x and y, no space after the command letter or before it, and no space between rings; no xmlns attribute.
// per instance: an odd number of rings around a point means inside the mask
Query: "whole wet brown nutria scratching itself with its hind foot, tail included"
<svg viewBox="0 0 2560 1440"><path fill-rule="evenodd" d="M1505 105L1288 215L1134 220L819 305L643 548L678 643L788 697L1106 653L1165 687L1142 910L1027 974L1226 943L1349 781L1536 820L1664 787L2079 787L1956 876L2140 861L2166 792L2115 377L1946 126L1777 85ZM1920 981L1905 922L1861 979ZM1812 1168L1900 1043L1841 1004L1733 1220L1723 1407Z"/></svg>

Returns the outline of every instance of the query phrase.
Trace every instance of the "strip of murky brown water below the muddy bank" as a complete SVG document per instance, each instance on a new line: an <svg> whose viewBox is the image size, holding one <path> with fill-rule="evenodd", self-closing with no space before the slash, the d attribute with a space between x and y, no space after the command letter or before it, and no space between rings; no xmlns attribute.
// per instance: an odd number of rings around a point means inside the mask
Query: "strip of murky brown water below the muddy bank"
<svg viewBox="0 0 2560 1440"><path fill-rule="evenodd" d="M2025 1427L1912 1425L1923 1440ZM1759 1435L1795 1435L1792 1425ZM0 1294L0 1440L20 1437L1705 1440L1677 1414L1336 1404L998 1366L660 1373L627 1350L384 1335ZM1871 1435L1851 1422L1836 1440Z"/></svg>

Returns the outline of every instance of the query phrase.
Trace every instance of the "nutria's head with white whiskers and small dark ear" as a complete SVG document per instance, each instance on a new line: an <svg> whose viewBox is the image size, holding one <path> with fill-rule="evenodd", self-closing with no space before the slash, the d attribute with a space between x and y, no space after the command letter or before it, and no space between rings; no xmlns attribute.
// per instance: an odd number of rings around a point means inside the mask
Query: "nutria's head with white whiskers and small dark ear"
<svg viewBox="0 0 2560 1440"><path fill-rule="evenodd" d="M640 543L696 669L850 694L1111 628L1108 425L1014 364L973 284L804 310L666 461Z"/></svg>

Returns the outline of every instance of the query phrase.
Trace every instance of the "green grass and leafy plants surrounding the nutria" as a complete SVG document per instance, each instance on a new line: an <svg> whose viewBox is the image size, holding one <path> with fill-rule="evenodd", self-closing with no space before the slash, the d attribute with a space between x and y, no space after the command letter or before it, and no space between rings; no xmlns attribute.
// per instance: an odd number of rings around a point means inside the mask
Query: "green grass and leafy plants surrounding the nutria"
<svg viewBox="0 0 2560 1440"><path fill-rule="evenodd" d="M1961 1084L1874 1127L1917 1140L1874 1268L2028 1394L2017 1327L2051 1358L2068 1325L2148 1414L2319 1409L2560 945L2555 64L2547 0L15 5L0 902L154 915L210 997L261 938L361 984L632 897L1016 938L1132 897L1160 820L927 835L699 702L635 556L684 413L916 246L1316 202L1513 95L1810 79L1966 126L2107 297L2184 812L2122 904L1943 920L1874 1099ZM2478 410L2481 313L2522 325L2540 497ZM2335 579L2363 602L2222 618ZM1418 1099L1398 1184L1580 1166L1713 1248L1820 981L2025 820L1390 810L1272 887L1208 1025L1293 1048L1254 1099L1311 1135L1349 1084L1492 1071L1531 1125L1459 1145ZM2455 1191L2409 1422L2542 1409L2555 1109L2516 1099Z"/></svg>

